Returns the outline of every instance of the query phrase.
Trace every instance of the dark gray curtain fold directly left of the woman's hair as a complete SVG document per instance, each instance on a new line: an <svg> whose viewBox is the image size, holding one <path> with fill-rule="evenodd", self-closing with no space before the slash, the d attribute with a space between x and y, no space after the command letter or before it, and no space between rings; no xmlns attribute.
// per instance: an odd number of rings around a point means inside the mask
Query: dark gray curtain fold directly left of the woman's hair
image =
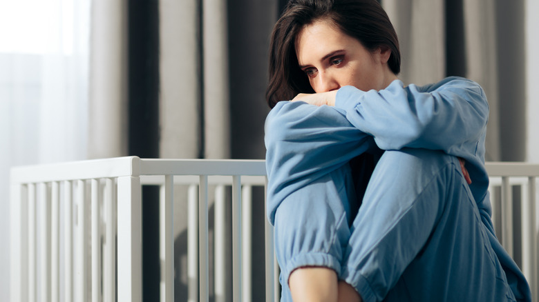
<svg viewBox="0 0 539 302"><path fill-rule="evenodd" d="M269 34L278 17L275 1L229 0L231 157L265 157L264 121Z"/></svg>

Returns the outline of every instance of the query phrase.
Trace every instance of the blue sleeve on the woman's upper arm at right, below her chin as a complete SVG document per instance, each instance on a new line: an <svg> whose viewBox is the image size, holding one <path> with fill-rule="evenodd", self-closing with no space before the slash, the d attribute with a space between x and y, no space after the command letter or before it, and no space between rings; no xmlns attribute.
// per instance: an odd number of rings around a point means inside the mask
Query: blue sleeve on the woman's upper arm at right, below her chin
<svg viewBox="0 0 539 302"><path fill-rule="evenodd" d="M363 92L352 86L337 92L336 106L379 148L425 148L470 159L484 157L482 137L489 105L477 83L447 78L429 87L395 80L388 88ZM484 142L483 142L484 143Z"/></svg>

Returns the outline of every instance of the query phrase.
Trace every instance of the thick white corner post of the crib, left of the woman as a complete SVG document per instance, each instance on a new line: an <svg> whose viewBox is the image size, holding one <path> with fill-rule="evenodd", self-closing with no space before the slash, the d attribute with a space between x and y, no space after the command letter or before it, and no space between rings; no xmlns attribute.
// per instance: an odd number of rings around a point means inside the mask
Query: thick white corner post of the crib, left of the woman
<svg viewBox="0 0 539 302"><path fill-rule="evenodd" d="M142 189L140 177L117 179L118 301L142 302Z"/></svg>

